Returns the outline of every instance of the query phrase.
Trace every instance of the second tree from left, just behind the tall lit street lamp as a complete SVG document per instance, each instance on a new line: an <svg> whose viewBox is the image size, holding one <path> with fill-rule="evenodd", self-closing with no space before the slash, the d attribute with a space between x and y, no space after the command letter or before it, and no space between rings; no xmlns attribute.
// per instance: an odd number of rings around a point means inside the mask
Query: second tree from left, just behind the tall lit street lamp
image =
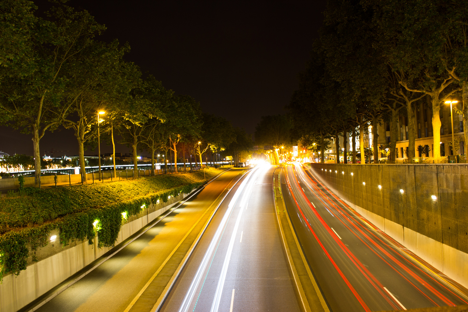
<svg viewBox="0 0 468 312"><path fill-rule="evenodd" d="M106 110L107 118L100 124L101 130L105 131L105 126L111 126L118 115L116 106L129 94L131 81L139 79L138 68L123 63L128 49L128 46L120 47L117 41L111 44L95 42L83 53L73 56L76 65L70 69L72 78L65 96L65 101L72 103L73 115L64 121L64 125L73 129L78 141L81 174L85 174L84 144L97 137L96 113Z"/></svg>

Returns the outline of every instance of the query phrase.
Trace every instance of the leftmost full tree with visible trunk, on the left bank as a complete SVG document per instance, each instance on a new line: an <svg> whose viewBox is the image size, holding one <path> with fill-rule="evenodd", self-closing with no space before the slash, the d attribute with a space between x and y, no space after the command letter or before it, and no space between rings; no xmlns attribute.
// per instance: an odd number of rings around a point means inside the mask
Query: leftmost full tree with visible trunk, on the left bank
<svg viewBox="0 0 468 312"><path fill-rule="evenodd" d="M29 21L33 28L26 45L33 49L25 51L28 55L23 58L28 62L16 67L16 74L3 77L0 109L11 126L32 134L35 184L39 185L39 142L45 131L57 128L69 113L71 103L62 100L70 70L76 65L73 56L80 54L104 27L87 11L65 5L53 7L46 18Z"/></svg>

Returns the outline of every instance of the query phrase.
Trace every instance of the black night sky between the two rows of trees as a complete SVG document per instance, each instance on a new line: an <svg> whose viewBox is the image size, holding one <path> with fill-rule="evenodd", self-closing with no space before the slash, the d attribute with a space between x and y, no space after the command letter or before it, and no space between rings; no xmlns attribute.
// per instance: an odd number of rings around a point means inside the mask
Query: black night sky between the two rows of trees
<svg viewBox="0 0 468 312"><path fill-rule="evenodd" d="M104 41L128 42L126 59L205 112L249 133L263 115L284 113L304 68L325 0L285 2L71 0L105 24ZM43 12L46 1L35 1ZM45 4L44 4L45 3ZM48 133L44 151L77 153L73 132ZM111 151L111 146L102 152ZM32 155L30 136L0 127L0 150ZM118 152L128 152L119 146ZM62 155L64 152L55 154ZM92 153L92 152L88 152Z"/></svg>

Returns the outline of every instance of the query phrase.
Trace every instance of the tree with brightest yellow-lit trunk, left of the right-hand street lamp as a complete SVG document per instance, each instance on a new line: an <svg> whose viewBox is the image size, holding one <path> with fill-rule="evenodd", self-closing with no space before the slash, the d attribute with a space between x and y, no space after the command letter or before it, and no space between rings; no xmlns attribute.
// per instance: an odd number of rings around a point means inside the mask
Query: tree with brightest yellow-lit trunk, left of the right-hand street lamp
<svg viewBox="0 0 468 312"><path fill-rule="evenodd" d="M434 146L440 141L440 104L461 90L444 61L445 14L440 11L434 0L380 0L373 6L376 45L382 58L402 87L431 97ZM407 110L410 117L412 108ZM434 157L440 157L438 149Z"/></svg>

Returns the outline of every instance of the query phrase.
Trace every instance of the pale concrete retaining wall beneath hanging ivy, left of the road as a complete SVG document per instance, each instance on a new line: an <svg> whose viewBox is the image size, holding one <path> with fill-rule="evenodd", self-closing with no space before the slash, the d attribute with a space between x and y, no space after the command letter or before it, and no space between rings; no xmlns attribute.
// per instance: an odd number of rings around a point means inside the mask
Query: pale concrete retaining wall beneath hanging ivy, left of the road
<svg viewBox="0 0 468 312"><path fill-rule="evenodd" d="M129 217L120 229L116 245L188 195L171 197L167 203L152 203L137 216ZM56 243L49 242L46 247L37 250L39 261L33 262L32 257L29 257L29 265L20 275L9 274L3 277L3 283L0 284L1 312L18 311L112 249L98 248L97 236L93 245L89 245L86 239L64 247L59 243L59 232L51 232L50 235L57 235Z"/></svg>

